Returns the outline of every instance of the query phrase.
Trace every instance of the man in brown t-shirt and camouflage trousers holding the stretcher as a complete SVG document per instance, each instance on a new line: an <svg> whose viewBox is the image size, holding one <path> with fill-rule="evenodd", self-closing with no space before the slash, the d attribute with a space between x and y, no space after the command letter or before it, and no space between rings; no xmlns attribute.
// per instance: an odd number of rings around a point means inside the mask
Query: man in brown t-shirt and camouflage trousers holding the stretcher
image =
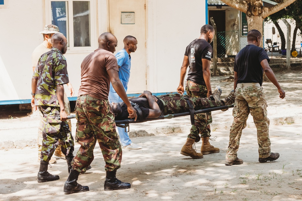
<svg viewBox="0 0 302 201"><path fill-rule="evenodd" d="M89 54L81 64L81 86L76 101L76 142L81 147L72 160L72 169L64 185L65 193L88 191L76 181L80 173L86 171L94 156L93 149L98 141L106 163L104 190L121 190L131 185L115 177L120 168L122 149L118 141L114 115L110 111L108 92L110 82L114 90L127 105L129 118L137 119L118 77L118 65L113 52L117 46L116 37L108 32L98 38L99 48Z"/></svg>

